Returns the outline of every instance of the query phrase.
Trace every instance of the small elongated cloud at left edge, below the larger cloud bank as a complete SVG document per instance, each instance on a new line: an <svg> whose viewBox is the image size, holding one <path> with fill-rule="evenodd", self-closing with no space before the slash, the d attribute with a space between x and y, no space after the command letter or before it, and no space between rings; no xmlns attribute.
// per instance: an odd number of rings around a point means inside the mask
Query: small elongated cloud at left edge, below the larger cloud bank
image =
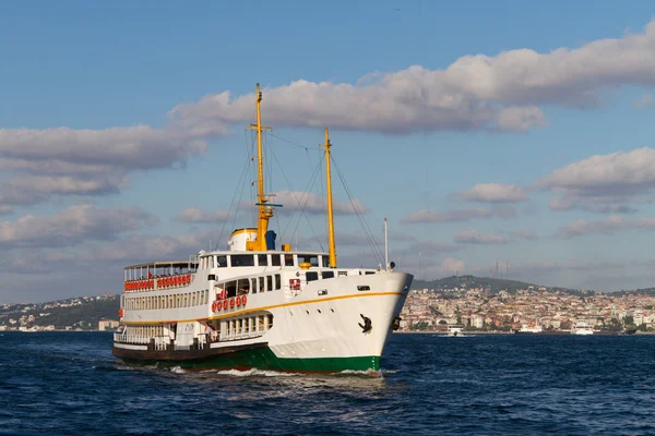
<svg viewBox="0 0 655 436"><path fill-rule="evenodd" d="M16 221L0 221L0 246L70 246L88 240L112 240L156 222L154 215L136 207L71 206L52 217L26 215Z"/></svg>

